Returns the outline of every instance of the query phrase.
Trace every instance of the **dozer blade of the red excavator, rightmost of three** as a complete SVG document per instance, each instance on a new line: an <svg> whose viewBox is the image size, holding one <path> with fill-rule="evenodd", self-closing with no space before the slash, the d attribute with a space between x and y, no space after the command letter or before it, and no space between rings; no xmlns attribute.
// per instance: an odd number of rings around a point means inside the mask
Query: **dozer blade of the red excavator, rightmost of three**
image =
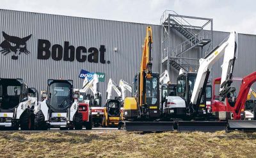
<svg viewBox="0 0 256 158"><path fill-rule="evenodd" d="M256 130L256 120L228 120L227 130Z"/></svg>

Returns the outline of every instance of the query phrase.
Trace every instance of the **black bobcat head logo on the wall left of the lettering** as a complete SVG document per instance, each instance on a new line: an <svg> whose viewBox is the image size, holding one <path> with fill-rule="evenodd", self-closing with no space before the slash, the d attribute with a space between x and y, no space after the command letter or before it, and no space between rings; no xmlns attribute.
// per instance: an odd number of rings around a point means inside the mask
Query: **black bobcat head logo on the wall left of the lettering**
<svg viewBox="0 0 256 158"><path fill-rule="evenodd" d="M20 55L21 52L24 52L25 54L29 54L30 52L27 50L27 41L32 35L26 36L24 38L19 38L17 36L10 36L6 33L3 33L4 41L0 44L0 47L2 47L2 54L4 56L10 52L14 52L12 55L12 59L18 59L18 54Z"/></svg>

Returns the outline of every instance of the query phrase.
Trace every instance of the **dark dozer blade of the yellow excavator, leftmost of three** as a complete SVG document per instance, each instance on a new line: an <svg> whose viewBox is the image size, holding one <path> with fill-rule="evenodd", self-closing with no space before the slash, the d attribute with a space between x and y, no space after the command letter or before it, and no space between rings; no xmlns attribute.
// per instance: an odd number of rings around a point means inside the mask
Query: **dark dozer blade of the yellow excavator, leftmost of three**
<svg viewBox="0 0 256 158"><path fill-rule="evenodd" d="M172 131L173 122L125 122L127 131L163 132Z"/></svg>

